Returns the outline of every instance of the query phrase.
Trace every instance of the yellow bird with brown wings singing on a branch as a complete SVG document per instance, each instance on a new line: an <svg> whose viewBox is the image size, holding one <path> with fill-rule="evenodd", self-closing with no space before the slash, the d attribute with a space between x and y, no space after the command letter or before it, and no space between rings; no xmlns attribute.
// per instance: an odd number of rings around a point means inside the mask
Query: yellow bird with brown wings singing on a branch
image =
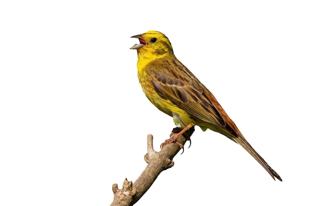
<svg viewBox="0 0 310 206"><path fill-rule="evenodd" d="M240 144L274 180L276 177L282 181L244 138L206 86L174 56L164 34L149 31L132 38L140 41L131 49L138 52L138 78L145 95L182 128L169 142L177 142L179 136L195 125L204 131L209 128Z"/></svg>

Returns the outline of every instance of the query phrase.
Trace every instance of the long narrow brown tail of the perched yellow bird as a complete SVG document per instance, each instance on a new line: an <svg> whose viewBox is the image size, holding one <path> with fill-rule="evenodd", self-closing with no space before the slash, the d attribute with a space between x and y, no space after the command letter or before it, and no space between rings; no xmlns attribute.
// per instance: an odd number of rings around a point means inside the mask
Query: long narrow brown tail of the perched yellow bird
<svg viewBox="0 0 310 206"><path fill-rule="evenodd" d="M255 160L266 169L266 171L271 175L271 177L275 180L274 177L276 177L278 180L282 181L280 175L276 173L267 163L258 155L258 153L255 151L255 149L250 145L250 143L240 134L237 138L233 137L233 139L240 144L245 150L248 151L252 155L252 157L255 158Z"/></svg>

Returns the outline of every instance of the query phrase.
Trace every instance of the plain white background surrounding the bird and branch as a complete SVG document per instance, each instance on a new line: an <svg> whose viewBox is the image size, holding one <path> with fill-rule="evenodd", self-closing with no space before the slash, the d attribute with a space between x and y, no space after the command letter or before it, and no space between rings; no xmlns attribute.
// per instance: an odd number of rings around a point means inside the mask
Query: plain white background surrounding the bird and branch
<svg viewBox="0 0 310 206"><path fill-rule="evenodd" d="M130 39L164 33L282 177L199 127L137 206L310 205L307 0L0 3L0 205L108 206L172 118L145 97Z"/></svg>

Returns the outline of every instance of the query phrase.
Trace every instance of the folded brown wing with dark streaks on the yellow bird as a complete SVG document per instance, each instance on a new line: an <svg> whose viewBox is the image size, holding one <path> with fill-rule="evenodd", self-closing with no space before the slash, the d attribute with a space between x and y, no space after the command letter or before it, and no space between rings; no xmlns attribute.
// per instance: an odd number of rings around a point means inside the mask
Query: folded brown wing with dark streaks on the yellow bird
<svg viewBox="0 0 310 206"><path fill-rule="evenodd" d="M152 62L150 67L151 81L156 92L163 98L170 100L193 118L226 127L214 96L180 61L161 59Z"/></svg>

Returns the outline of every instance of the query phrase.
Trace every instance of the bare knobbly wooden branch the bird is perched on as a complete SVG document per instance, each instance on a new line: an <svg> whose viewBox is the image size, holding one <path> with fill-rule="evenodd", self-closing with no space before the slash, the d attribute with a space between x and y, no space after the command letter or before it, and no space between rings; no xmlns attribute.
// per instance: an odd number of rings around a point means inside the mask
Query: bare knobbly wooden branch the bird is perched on
<svg viewBox="0 0 310 206"><path fill-rule="evenodd" d="M177 133L175 130L177 129L172 130L170 138ZM185 132L184 135L189 139L193 132L194 127ZM177 141L184 145L186 138L182 135ZM127 178L124 180L122 189L119 189L117 184L113 184L114 199L110 206L133 206L137 203L152 186L160 172L174 165L172 159L180 149L178 144L170 143L165 145L160 152L156 152L153 148L153 135L149 134L147 141L148 153L144 156L144 160L148 163L147 167L133 184Z"/></svg>

